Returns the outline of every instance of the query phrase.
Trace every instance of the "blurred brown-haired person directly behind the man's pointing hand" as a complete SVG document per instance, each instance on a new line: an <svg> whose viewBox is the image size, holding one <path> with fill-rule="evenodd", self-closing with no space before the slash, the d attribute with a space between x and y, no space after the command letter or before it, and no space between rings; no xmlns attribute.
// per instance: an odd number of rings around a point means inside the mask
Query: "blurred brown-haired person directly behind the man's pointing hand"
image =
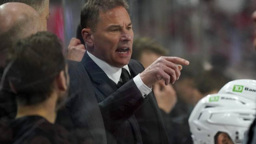
<svg viewBox="0 0 256 144"><path fill-rule="evenodd" d="M160 56L167 56L167 50L158 42L146 37L134 40L133 54L131 58L139 61L144 67L151 65ZM152 87L157 104L161 110L168 137L171 140L171 143L174 143L172 138L173 134L170 133L173 126L169 114L177 102L176 91L171 84L165 85L163 80L157 82Z"/></svg>

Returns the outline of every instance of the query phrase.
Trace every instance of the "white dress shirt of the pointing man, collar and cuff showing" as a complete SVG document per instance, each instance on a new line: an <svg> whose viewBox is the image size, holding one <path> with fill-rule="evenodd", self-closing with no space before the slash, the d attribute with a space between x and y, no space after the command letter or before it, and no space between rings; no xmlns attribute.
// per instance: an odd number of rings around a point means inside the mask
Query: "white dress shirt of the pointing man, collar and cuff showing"
<svg viewBox="0 0 256 144"><path fill-rule="evenodd" d="M93 54L90 54L88 51L86 52L88 53L89 57L107 74L107 76L112 81L114 81L116 84L118 83L118 81L120 81L122 68L110 66L108 63L97 58ZM131 75L128 65L123 66L123 68L125 68L128 71L128 73ZM152 91L143 83L143 81L140 78L140 74L134 77L133 80L137 88L140 90L143 98L145 98Z"/></svg>

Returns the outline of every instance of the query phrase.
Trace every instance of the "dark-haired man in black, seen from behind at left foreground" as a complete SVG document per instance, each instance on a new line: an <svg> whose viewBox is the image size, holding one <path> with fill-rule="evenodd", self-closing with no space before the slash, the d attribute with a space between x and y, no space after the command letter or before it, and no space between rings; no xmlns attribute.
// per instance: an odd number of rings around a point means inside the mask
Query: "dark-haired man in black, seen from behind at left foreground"
<svg viewBox="0 0 256 144"><path fill-rule="evenodd" d="M68 67L57 36L38 32L21 39L10 52L8 81L16 94L14 120L1 123L0 143L69 143L69 132L54 125L67 98Z"/></svg>

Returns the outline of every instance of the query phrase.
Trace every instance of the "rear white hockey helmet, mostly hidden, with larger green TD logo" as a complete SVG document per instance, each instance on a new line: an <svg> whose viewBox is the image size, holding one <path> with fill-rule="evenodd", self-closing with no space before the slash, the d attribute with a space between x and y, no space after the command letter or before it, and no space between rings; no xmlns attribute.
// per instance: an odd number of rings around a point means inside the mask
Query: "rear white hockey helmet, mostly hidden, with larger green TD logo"
<svg viewBox="0 0 256 144"><path fill-rule="evenodd" d="M238 79L225 84L218 93L232 93L256 101L256 80Z"/></svg>

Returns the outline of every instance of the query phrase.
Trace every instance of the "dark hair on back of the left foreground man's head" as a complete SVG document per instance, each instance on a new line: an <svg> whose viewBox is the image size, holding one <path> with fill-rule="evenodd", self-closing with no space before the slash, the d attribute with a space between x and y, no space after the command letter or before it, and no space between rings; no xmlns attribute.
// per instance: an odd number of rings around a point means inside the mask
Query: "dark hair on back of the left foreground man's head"
<svg viewBox="0 0 256 144"><path fill-rule="evenodd" d="M62 45L51 32L37 32L19 40L9 54L13 63L7 78L21 105L45 101L53 90L53 81L65 70Z"/></svg>

